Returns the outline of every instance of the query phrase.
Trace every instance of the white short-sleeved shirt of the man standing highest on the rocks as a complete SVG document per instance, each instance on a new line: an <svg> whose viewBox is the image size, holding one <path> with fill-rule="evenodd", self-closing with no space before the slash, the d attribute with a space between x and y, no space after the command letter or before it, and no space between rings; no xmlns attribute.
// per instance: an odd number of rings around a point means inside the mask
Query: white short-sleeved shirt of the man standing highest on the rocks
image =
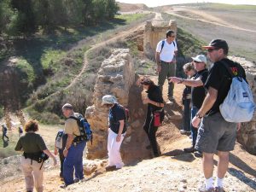
<svg viewBox="0 0 256 192"><path fill-rule="evenodd" d="M173 59L174 51L177 51L176 41L173 41L172 44L169 44L165 39L164 47L161 51L162 41L160 41L156 46L156 52L160 53L160 61L171 62Z"/></svg>

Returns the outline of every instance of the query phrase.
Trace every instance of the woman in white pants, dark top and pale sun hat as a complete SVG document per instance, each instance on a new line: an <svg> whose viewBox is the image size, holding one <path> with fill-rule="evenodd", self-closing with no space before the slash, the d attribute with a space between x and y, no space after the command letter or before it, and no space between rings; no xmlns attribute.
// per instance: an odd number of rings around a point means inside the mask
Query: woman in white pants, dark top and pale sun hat
<svg viewBox="0 0 256 192"><path fill-rule="evenodd" d="M103 96L102 105L109 108L108 113L108 166L107 171L120 169L124 163L119 152L125 137L125 110L119 105L115 96Z"/></svg>

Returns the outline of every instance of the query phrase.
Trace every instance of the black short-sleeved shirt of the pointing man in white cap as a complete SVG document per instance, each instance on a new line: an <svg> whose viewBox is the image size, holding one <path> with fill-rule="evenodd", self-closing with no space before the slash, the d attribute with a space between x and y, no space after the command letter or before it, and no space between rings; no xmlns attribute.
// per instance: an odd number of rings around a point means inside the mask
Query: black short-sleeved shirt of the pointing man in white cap
<svg viewBox="0 0 256 192"><path fill-rule="evenodd" d="M202 83L205 84L208 77L208 70L203 69L200 72L195 73L194 79L201 79ZM196 108L201 108L201 105L207 96L207 90L204 86L192 87L191 88L192 105Z"/></svg>

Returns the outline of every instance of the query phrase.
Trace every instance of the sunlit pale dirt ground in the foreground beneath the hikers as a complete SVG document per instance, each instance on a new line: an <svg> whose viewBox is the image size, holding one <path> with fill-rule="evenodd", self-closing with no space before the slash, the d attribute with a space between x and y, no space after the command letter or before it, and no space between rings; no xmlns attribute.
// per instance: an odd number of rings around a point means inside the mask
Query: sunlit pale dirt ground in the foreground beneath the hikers
<svg viewBox="0 0 256 192"><path fill-rule="evenodd" d="M153 77L156 79L156 77ZM165 87L166 88L166 87ZM175 87L176 109L181 108L180 93L183 85ZM166 89L164 90L166 92ZM165 97L166 100L166 97ZM44 172L44 191L99 191L99 192L135 192L135 191L197 191L203 183L201 158L193 154L184 154L183 148L189 147L189 137L179 133L181 119L166 122L157 132L161 156L148 160L136 160L115 172L105 172L106 160L84 160L87 169L94 172L86 176L82 183L75 183L67 189L60 189L61 180L58 168L52 167L52 162L46 164ZM49 128L42 127L41 133L46 137ZM46 135L44 135L46 134ZM144 134L143 137L146 137ZM48 143L54 141L48 136ZM132 156L133 153L145 153L146 148L137 146L135 151L123 151ZM217 159L215 159L217 160ZM255 156L248 154L239 143L230 154L230 168L225 182L226 191L253 192L256 189ZM215 171L216 164L215 161ZM25 185L19 167L19 157L10 157L0 161L1 192L24 191ZM89 172L90 173L90 172ZM5 177L4 177L5 174Z"/></svg>

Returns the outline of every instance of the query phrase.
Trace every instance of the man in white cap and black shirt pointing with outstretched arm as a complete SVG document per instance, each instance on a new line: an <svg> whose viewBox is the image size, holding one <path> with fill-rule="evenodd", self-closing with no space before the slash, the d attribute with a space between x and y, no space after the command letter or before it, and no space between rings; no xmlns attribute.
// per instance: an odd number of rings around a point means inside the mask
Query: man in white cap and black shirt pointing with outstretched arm
<svg viewBox="0 0 256 192"><path fill-rule="evenodd" d="M171 77L170 81L177 84L185 84L191 87L191 119L195 117L195 114L201 108L202 102L206 97L206 90L204 84L207 81L208 70L207 70L207 57L205 55L197 55L192 57L193 65L195 66L196 74L194 79L180 79L177 77ZM194 153L195 142L197 137L197 127L191 125L191 136L192 136L192 147L184 148L184 151L187 153ZM201 156L200 152L197 152L198 156Z"/></svg>

